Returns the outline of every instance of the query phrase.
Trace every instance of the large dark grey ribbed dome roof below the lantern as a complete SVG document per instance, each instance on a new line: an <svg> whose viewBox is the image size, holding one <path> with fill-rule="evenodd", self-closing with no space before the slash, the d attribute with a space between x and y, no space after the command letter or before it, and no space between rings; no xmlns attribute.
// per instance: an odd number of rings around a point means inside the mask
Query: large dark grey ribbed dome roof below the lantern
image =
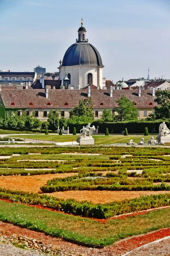
<svg viewBox="0 0 170 256"><path fill-rule="evenodd" d="M72 44L65 52L62 66L76 65L104 67L98 50L87 42Z"/></svg>

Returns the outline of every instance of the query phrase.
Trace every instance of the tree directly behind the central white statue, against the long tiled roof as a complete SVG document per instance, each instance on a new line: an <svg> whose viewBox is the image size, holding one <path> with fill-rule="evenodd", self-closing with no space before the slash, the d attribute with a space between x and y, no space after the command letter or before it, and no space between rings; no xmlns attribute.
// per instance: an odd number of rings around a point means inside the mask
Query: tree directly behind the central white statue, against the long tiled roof
<svg viewBox="0 0 170 256"><path fill-rule="evenodd" d="M70 111L70 117L72 116L87 116L90 119L94 119L93 103L91 101L91 97L80 99L79 105L75 106Z"/></svg>

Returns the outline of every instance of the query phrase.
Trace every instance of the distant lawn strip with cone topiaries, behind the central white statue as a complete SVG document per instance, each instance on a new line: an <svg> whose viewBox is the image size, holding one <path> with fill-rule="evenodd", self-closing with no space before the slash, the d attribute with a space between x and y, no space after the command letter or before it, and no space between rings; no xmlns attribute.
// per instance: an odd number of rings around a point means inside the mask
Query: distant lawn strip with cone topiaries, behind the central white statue
<svg viewBox="0 0 170 256"><path fill-rule="evenodd" d="M33 139L33 140L53 140L56 142L70 142L70 141L76 141L79 135L44 135L44 134L34 134L34 135L18 135L18 138L26 138L26 139ZM146 143L148 140L150 140L150 136L139 136L139 135L93 135L93 138L95 140L96 145L100 144L113 144L113 143L127 143L127 141L133 139L133 142L138 143L141 140L141 137L144 137ZM154 139L156 139L156 136L153 136ZM38 143L38 141L37 141Z"/></svg>

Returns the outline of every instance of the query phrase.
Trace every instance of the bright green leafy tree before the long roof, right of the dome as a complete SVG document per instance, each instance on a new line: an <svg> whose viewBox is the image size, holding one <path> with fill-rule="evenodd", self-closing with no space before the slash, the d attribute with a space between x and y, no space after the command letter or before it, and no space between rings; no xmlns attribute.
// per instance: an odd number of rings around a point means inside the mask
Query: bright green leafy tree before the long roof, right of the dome
<svg viewBox="0 0 170 256"><path fill-rule="evenodd" d="M119 107L113 108L113 111L117 112L114 121L137 120L137 109L134 107L134 102L131 102L126 96L122 96L116 102Z"/></svg>

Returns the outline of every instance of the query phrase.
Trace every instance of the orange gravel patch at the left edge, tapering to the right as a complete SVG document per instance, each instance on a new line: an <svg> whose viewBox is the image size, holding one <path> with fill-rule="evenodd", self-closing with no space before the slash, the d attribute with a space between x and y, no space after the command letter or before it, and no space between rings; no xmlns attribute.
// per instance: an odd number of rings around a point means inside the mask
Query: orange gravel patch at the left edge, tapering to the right
<svg viewBox="0 0 170 256"><path fill-rule="evenodd" d="M70 172L32 176L0 176L0 187L38 193L40 192L40 187L46 185L47 180L51 180L53 178L64 178L77 174L78 173Z"/></svg>

